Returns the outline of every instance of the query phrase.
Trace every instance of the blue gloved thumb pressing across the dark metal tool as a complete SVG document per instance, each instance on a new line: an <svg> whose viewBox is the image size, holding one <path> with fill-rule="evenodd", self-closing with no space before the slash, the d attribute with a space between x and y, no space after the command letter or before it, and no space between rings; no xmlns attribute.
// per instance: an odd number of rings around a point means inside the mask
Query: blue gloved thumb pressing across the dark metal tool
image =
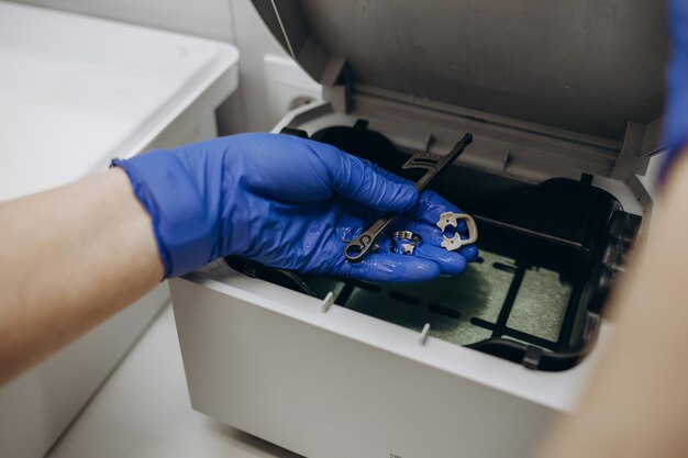
<svg viewBox="0 0 688 458"><path fill-rule="evenodd" d="M312 142L315 143L315 142ZM330 145L331 152L318 154L324 164L334 191L347 199L382 211L406 211L418 202L418 190L402 178L390 178L389 172L371 163L351 156Z"/></svg>

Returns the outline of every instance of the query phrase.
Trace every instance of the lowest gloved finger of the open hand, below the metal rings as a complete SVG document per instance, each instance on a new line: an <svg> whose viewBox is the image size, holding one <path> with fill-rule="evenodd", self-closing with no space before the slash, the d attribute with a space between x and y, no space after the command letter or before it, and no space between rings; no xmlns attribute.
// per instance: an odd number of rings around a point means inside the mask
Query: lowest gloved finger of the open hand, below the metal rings
<svg viewBox="0 0 688 458"><path fill-rule="evenodd" d="M442 272L437 262L415 256L377 253L368 255L360 262L343 262L340 275L366 281L429 281Z"/></svg>

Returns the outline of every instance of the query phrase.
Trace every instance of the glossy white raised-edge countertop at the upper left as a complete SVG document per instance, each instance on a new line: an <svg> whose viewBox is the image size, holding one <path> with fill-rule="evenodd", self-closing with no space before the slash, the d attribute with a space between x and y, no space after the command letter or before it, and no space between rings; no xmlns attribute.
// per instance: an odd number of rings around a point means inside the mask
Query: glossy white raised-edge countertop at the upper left
<svg viewBox="0 0 688 458"><path fill-rule="evenodd" d="M225 43L0 1L0 201L146 149L226 80L214 110L237 59Z"/></svg>

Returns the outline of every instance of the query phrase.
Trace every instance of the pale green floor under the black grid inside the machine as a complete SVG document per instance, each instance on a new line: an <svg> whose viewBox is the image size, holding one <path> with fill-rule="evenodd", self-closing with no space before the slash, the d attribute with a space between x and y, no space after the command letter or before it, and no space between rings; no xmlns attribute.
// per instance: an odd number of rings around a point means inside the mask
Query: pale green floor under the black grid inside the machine
<svg viewBox="0 0 688 458"><path fill-rule="evenodd" d="M471 319L497 322L515 270L514 259L481 250L480 261L460 277L407 284L356 282L346 297L342 281L312 276L304 280L321 298L332 291L339 305L419 332L430 323L432 336L468 345L491 336L491 329ZM559 281L557 272L529 269L507 325L556 342L570 294L572 286Z"/></svg>

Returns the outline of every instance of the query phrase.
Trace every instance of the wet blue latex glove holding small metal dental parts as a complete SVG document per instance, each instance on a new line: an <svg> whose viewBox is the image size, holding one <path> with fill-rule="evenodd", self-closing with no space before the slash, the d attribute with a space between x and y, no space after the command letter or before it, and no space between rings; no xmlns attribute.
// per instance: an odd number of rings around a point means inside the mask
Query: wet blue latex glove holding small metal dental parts
<svg viewBox="0 0 688 458"><path fill-rule="evenodd" d="M450 253L434 227L458 211L334 146L276 134L243 134L114 160L151 213L166 277L221 256L267 266L375 281L422 281L458 275L475 246ZM352 264L347 242L385 211L406 212L424 241L413 256L380 252Z"/></svg>

